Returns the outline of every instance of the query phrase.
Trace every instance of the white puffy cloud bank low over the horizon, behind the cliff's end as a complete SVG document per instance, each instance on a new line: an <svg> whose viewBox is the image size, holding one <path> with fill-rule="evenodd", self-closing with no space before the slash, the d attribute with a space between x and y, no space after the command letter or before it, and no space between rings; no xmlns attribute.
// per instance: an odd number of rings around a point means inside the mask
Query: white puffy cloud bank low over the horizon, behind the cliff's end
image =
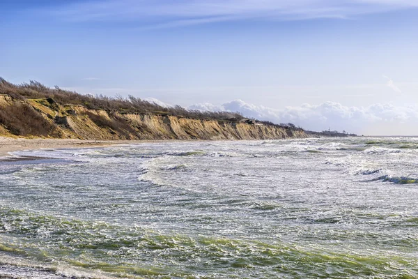
<svg viewBox="0 0 418 279"><path fill-rule="evenodd" d="M271 107L232 100L216 106L210 103L191 105L189 110L212 112L227 110L243 116L273 123L294 123L307 130L346 130L358 135L418 135L418 107L375 104L368 107L346 107L340 103L325 102L319 105L303 104L275 110ZM386 132L384 132L386 131Z"/></svg>

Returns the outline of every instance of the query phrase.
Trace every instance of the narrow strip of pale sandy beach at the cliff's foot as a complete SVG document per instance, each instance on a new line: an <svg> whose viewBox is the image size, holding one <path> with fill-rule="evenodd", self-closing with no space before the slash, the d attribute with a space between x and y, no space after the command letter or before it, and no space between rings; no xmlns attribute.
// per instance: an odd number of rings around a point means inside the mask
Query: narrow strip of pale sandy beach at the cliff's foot
<svg viewBox="0 0 418 279"><path fill-rule="evenodd" d="M31 149L79 148L109 146L114 144L132 143L122 140L70 140L70 139L24 139L0 137L0 158L7 158L10 152ZM139 141L137 141L139 142Z"/></svg>

